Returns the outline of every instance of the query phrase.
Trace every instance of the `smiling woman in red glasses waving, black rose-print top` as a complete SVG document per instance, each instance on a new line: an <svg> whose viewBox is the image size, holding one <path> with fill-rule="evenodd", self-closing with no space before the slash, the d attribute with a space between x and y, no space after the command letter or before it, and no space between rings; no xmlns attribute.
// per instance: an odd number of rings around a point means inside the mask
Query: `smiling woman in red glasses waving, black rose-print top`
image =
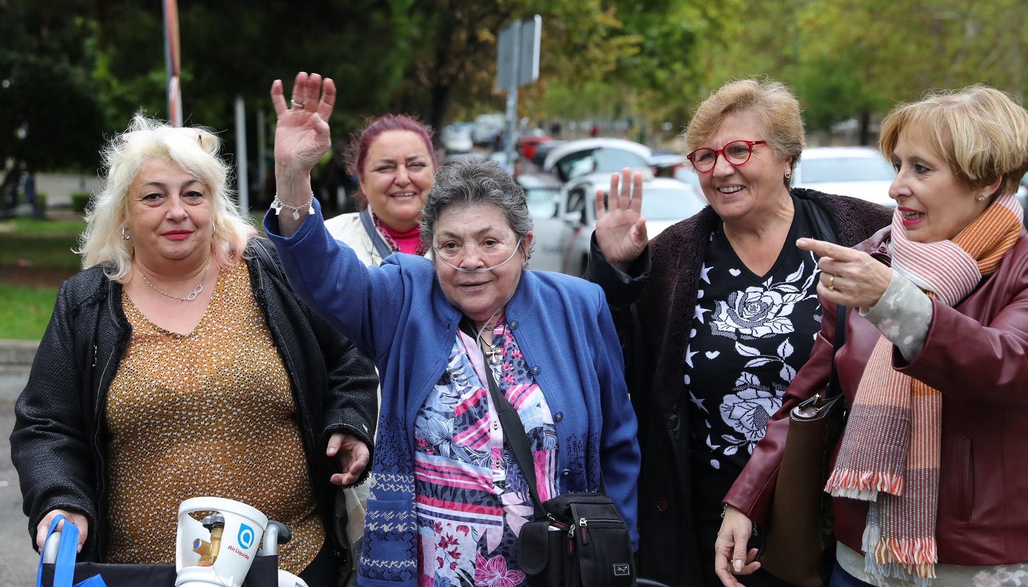
<svg viewBox="0 0 1028 587"><path fill-rule="evenodd" d="M852 246L890 210L790 188L805 140L780 83L723 86L683 142L710 205L650 242L641 175L615 174L609 209L596 196L589 278L619 322L639 422L639 576L714 587L722 500L820 329L817 260L796 241ZM783 583L758 571L746 585Z"/></svg>

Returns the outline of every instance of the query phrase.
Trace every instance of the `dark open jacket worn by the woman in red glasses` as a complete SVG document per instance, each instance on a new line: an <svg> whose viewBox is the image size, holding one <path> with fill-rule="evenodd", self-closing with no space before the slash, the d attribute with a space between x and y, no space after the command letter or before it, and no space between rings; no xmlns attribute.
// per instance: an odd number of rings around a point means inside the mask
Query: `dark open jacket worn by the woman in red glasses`
<svg viewBox="0 0 1028 587"><path fill-rule="evenodd" d="M821 238L844 246L869 238L891 218L889 208L855 198L804 189L792 193L817 204L814 224ZM700 269L720 220L707 206L661 232L628 275L607 262L594 237L586 275L607 294L638 417L639 577L668 585L703 585L695 553L713 549L712 544L695 540L691 433L688 401L682 401L682 393Z"/></svg>

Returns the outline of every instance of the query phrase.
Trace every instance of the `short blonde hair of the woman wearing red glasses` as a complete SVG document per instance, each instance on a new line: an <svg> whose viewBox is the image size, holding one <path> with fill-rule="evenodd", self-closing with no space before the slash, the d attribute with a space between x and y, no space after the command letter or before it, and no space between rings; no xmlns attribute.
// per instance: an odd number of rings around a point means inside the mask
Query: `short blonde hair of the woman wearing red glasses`
<svg viewBox="0 0 1028 587"><path fill-rule="evenodd" d="M736 136L744 141L763 140L775 157L790 162L796 169L807 144L803 131L800 103L788 86L781 82L741 79L721 86L696 109L689 126L682 133L683 153L692 153L718 132L718 127L730 114L748 114L763 130L763 136ZM790 178L782 178L785 187Z"/></svg>

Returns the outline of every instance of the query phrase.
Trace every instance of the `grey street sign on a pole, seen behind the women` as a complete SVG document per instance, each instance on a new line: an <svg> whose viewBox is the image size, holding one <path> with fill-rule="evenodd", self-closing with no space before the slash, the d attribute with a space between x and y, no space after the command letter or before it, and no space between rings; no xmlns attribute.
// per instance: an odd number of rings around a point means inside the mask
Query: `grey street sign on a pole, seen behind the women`
<svg viewBox="0 0 1028 587"><path fill-rule="evenodd" d="M539 79L539 53L543 17L539 14L515 21L500 31L497 40L497 91L507 91L507 133L504 140L507 165L514 170L517 143L517 88Z"/></svg>

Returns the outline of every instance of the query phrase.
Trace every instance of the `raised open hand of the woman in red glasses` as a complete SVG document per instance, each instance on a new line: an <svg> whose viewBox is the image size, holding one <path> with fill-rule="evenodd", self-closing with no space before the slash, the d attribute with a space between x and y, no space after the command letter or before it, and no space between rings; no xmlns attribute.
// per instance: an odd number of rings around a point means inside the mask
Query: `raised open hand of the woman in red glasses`
<svg viewBox="0 0 1028 587"><path fill-rule="evenodd" d="M639 213L642 173L633 174L628 167L620 175L613 173L609 194L604 208L603 190L596 190L596 244L611 265L627 271L650 242L646 219Z"/></svg>

